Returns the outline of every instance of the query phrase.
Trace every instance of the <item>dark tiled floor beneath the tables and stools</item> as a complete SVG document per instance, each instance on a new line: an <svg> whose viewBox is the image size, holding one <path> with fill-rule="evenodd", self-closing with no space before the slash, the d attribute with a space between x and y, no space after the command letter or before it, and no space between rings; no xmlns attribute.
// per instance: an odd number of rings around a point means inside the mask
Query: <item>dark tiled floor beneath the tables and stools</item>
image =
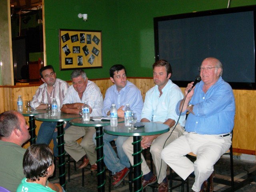
<svg viewBox="0 0 256 192"><path fill-rule="evenodd" d="M149 163L149 162L148 162ZM57 162L58 164L58 162ZM80 162L77 163L79 165ZM96 172L93 172L91 175L90 165L85 169L85 186L82 187L82 170L77 169L74 170L74 164L70 164L71 167L71 178L70 182L67 182L66 191L67 192L95 192L97 191L97 175ZM66 166L67 169L67 166ZM215 179L217 178L230 178L230 159L226 157L222 157L214 166L216 171ZM168 171L169 174L169 171ZM241 160L234 159L234 176L236 182L242 182L247 178L247 174L252 175L252 181L246 184L246 186L236 190L237 192L256 192L256 164L253 162L246 162ZM108 172L106 173L106 184L105 191L108 191ZM128 176L126 178L128 180ZM68 181L68 174L66 174L66 180ZM58 168L56 168L56 176L50 179L51 182L58 182ZM189 177L189 191L191 191L192 184L194 182L194 178ZM177 181L174 181L173 184L178 184ZM223 184L217 184L214 182L214 191L222 192L227 188L227 186ZM111 187L112 192L127 192L129 191L128 183L124 185L120 185L117 188ZM151 192L152 188L147 187L146 192ZM157 190L155 190L157 191ZM174 192L180 192L181 187L173 190ZM186 189L185 189L186 191Z"/></svg>

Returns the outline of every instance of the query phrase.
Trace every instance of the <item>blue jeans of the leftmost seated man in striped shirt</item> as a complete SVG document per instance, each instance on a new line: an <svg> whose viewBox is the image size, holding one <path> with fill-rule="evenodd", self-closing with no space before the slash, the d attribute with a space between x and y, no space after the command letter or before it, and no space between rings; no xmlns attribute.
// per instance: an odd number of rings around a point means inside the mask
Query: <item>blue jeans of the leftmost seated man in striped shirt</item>
<svg viewBox="0 0 256 192"><path fill-rule="evenodd" d="M37 144L45 143L47 145L50 144L51 140L53 140L53 154L55 157L58 156L58 132L54 132L56 126L57 122L42 122L36 139ZM64 130L66 130L69 126L70 124L67 123Z"/></svg>

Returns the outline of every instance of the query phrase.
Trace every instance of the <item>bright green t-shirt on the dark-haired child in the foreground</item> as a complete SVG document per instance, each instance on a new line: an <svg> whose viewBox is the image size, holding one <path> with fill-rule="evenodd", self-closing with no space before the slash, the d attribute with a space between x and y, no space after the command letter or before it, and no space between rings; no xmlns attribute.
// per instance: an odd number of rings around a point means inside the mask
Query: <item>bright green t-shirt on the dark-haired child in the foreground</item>
<svg viewBox="0 0 256 192"><path fill-rule="evenodd" d="M50 187L42 186L38 183L26 182L27 178L22 179L16 192L54 192Z"/></svg>

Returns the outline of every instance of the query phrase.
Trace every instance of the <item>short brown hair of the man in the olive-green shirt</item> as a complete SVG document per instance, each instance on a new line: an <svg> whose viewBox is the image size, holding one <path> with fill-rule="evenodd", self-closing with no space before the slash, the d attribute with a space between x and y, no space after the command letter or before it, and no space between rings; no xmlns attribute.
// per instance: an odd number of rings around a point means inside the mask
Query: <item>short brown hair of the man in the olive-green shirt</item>
<svg viewBox="0 0 256 192"><path fill-rule="evenodd" d="M0 138L10 137L15 128L20 130L20 123L17 114L18 112L16 111L6 111L0 114Z"/></svg>

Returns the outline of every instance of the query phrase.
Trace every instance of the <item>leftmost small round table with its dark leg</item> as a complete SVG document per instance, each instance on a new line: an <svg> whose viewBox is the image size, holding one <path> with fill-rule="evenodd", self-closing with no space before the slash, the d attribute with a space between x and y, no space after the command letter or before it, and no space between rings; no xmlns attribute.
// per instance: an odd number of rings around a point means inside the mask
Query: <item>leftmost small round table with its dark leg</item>
<svg viewBox="0 0 256 192"><path fill-rule="evenodd" d="M35 124L35 115L46 113L46 110L32 110L31 112L26 112L26 109L22 111L22 115L29 117L29 133L30 133L30 145L36 143L36 124Z"/></svg>

